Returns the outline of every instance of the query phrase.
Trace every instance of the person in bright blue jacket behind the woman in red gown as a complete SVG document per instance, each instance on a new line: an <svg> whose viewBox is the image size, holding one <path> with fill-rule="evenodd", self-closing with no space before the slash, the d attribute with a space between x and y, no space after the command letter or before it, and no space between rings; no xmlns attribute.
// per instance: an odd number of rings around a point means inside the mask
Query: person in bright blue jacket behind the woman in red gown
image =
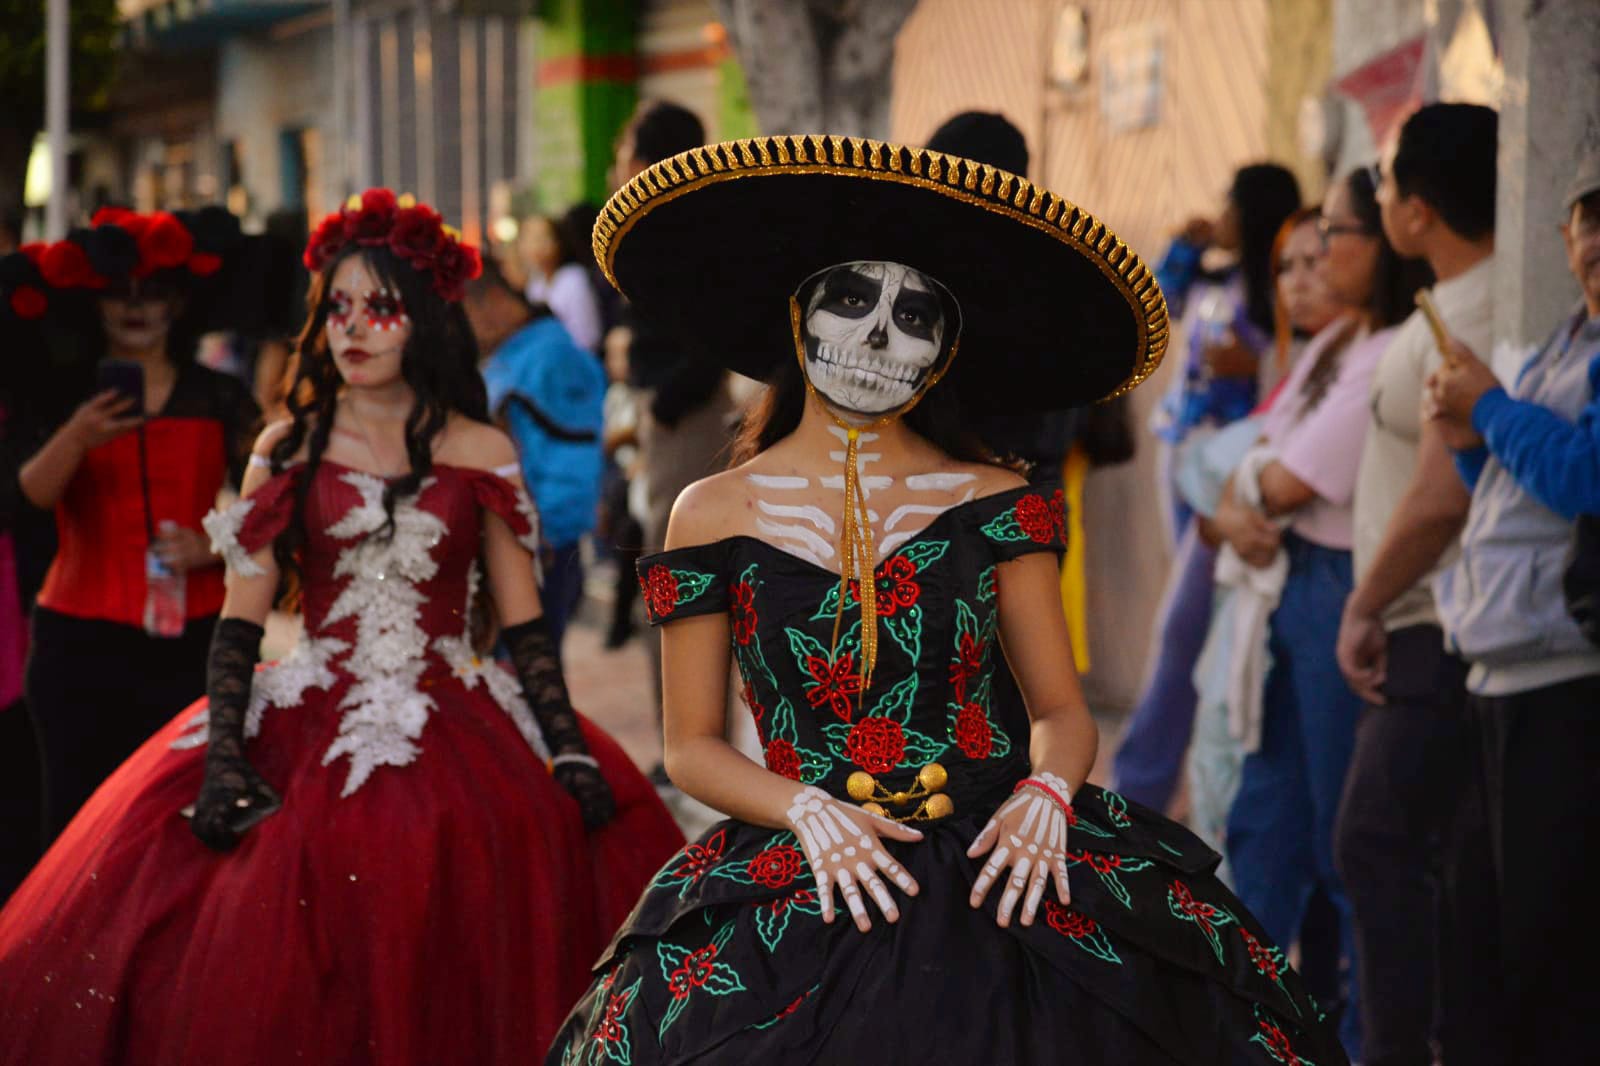
<svg viewBox="0 0 1600 1066"><path fill-rule="evenodd" d="M490 410L517 443L523 483L539 512L539 594L560 647L582 599L579 541L594 530L600 503L605 370L549 307L530 304L493 259L467 283L462 306L486 354Z"/></svg>

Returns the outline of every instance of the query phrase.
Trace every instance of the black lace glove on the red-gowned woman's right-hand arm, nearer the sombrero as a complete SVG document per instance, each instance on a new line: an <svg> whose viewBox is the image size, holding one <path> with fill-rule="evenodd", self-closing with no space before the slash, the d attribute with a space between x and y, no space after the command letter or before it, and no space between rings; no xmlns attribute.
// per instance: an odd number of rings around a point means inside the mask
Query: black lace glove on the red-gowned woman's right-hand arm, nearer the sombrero
<svg viewBox="0 0 1600 1066"><path fill-rule="evenodd" d="M554 760L550 776L578 800L584 826L598 829L611 821L616 813L616 800L611 797L611 786L600 776L600 767L589 754L589 744L584 743L582 730L578 727L578 714L566 696L562 658L555 650L555 642L550 640L549 623L541 616L510 626L501 631L501 640L510 651L517 679L522 682L522 691L528 698L533 717L544 733L544 743L550 746Z"/></svg>

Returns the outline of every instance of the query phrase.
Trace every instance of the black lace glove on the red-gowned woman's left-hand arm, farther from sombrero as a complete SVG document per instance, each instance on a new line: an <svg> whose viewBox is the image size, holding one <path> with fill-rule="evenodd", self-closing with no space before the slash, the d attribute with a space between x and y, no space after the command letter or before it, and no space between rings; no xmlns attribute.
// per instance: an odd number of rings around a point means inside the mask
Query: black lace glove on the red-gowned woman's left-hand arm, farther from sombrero
<svg viewBox="0 0 1600 1066"><path fill-rule="evenodd" d="M250 685L261 659L261 626L224 618L211 634L206 658L210 727L205 749L205 781L189 823L208 848L226 852L240 834L275 812L283 802L256 768L245 760L245 712Z"/></svg>

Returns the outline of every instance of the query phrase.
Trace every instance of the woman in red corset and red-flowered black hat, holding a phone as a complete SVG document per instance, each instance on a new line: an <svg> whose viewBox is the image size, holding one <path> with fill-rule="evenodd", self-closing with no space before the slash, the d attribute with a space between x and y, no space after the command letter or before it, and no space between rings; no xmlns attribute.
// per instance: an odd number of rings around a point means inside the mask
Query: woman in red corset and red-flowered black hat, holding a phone
<svg viewBox="0 0 1600 1066"><path fill-rule="evenodd" d="M106 208L40 256L69 362L42 399L56 424L11 475L27 504L54 512L59 539L26 680L46 845L173 707L205 691L222 560L200 519L238 483L259 411L194 352L202 287L237 240L221 208Z"/></svg>

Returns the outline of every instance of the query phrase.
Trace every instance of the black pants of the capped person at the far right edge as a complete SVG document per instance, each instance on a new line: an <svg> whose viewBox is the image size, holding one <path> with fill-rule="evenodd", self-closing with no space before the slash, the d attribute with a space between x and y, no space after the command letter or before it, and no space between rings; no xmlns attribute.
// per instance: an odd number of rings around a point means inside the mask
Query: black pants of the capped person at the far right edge
<svg viewBox="0 0 1600 1066"><path fill-rule="evenodd" d="M1594 1061L1600 675L1467 704L1482 799L1475 850L1494 890L1480 924L1498 933L1501 952L1498 972L1474 980L1501 989L1498 1061ZM1474 877L1474 855L1464 858L1458 876Z"/></svg>

